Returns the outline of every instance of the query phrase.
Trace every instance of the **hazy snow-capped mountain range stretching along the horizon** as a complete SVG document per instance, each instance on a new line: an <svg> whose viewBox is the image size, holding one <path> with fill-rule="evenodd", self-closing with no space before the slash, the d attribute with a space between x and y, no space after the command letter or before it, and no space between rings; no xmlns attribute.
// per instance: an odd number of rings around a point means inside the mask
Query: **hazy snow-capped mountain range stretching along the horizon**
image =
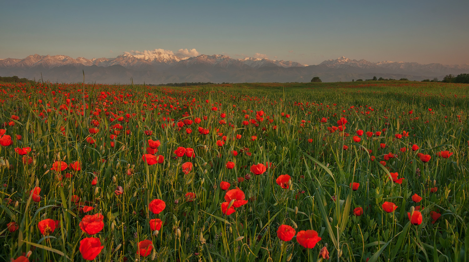
<svg viewBox="0 0 469 262"><path fill-rule="evenodd" d="M447 74L469 73L469 64L443 65L416 62L368 62L345 57L326 60L318 65L247 57L233 59L227 55L201 54L180 57L154 50L125 52L115 58L76 59L66 55L30 55L24 59L0 59L0 76L18 76L51 82L85 82L105 84L163 84L182 82L309 82L318 76L324 82L352 79L408 78L440 80Z"/></svg>

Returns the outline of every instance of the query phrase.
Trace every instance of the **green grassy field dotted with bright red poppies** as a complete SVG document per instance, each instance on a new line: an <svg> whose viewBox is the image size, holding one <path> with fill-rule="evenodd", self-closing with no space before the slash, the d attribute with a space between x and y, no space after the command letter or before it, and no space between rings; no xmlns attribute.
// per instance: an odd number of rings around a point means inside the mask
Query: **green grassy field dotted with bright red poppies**
<svg viewBox="0 0 469 262"><path fill-rule="evenodd" d="M468 259L467 84L0 84L0 103L0 261Z"/></svg>

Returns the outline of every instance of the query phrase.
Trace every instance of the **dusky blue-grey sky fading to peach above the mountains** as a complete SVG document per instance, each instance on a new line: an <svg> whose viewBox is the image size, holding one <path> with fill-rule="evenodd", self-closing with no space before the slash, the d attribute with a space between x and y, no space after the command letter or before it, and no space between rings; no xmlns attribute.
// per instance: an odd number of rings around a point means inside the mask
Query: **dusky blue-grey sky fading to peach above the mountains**
<svg viewBox="0 0 469 262"><path fill-rule="evenodd" d="M187 48L309 65L340 56L469 63L468 0L18 0L1 7L0 58Z"/></svg>

